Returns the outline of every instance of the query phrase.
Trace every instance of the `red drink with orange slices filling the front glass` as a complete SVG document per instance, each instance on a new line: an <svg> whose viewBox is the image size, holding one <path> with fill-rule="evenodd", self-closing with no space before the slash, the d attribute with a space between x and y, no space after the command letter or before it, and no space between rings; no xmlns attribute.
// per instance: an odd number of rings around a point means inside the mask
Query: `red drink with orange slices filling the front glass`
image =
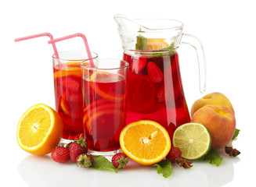
<svg viewBox="0 0 256 187"><path fill-rule="evenodd" d="M118 74L92 81L83 80L84 126L89 150L120 149L119 136L125 126L126 79Z"/></svg>

